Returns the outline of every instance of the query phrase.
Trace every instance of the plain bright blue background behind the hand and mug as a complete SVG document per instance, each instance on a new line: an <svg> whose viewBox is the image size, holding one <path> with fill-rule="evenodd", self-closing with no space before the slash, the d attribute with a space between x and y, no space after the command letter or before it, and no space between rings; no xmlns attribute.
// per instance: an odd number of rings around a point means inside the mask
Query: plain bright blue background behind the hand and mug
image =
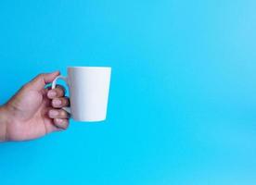
<svg viewBox="0 0 256 185"><path fill-rule="evenodd" d="M0 2L1 103L111 66L108 120L0 144L0 184L255 184L254 0Z"/></svg>

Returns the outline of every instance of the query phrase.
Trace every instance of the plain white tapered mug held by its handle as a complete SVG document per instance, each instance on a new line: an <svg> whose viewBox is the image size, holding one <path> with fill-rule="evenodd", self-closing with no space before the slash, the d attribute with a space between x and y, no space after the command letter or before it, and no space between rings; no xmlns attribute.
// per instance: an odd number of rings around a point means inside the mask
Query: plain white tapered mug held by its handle
<svg viewBox="0 0 256 185"><path fill-rule="evenodd" d="M52 89L58 79L65 80L70 91L70 107L63 109L77 121L102 121L107 116L110 75L109 67L70 67L68 77L58 76L52 82Z"/></svg>

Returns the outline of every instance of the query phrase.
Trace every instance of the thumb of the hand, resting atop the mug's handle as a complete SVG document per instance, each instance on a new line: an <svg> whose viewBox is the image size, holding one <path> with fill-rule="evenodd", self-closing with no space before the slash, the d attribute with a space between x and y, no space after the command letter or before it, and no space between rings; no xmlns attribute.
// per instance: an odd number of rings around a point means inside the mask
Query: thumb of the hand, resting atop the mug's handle
<svg viewBox="0 0 256 185"><path fill-rule="evenodd" d="M32 88L32 90L41 91L45 88L46 84L55 80L55 78L58 77L58 75L59 71L39 74L28 83L28 86Z"/></svg>

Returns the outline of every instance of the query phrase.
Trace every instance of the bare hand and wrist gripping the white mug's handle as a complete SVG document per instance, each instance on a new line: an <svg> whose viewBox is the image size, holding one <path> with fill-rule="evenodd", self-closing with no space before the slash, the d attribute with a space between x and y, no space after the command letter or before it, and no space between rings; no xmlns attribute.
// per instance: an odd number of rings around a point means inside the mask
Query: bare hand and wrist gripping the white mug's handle
<svg viewBox="0 0 256 185"><path fill-rule="evenodd" d="M69 114L61 109L70 104L64 88L45 88L58 75L38 75L0 106L0 142L33 140L69 127Z"/></svg>

